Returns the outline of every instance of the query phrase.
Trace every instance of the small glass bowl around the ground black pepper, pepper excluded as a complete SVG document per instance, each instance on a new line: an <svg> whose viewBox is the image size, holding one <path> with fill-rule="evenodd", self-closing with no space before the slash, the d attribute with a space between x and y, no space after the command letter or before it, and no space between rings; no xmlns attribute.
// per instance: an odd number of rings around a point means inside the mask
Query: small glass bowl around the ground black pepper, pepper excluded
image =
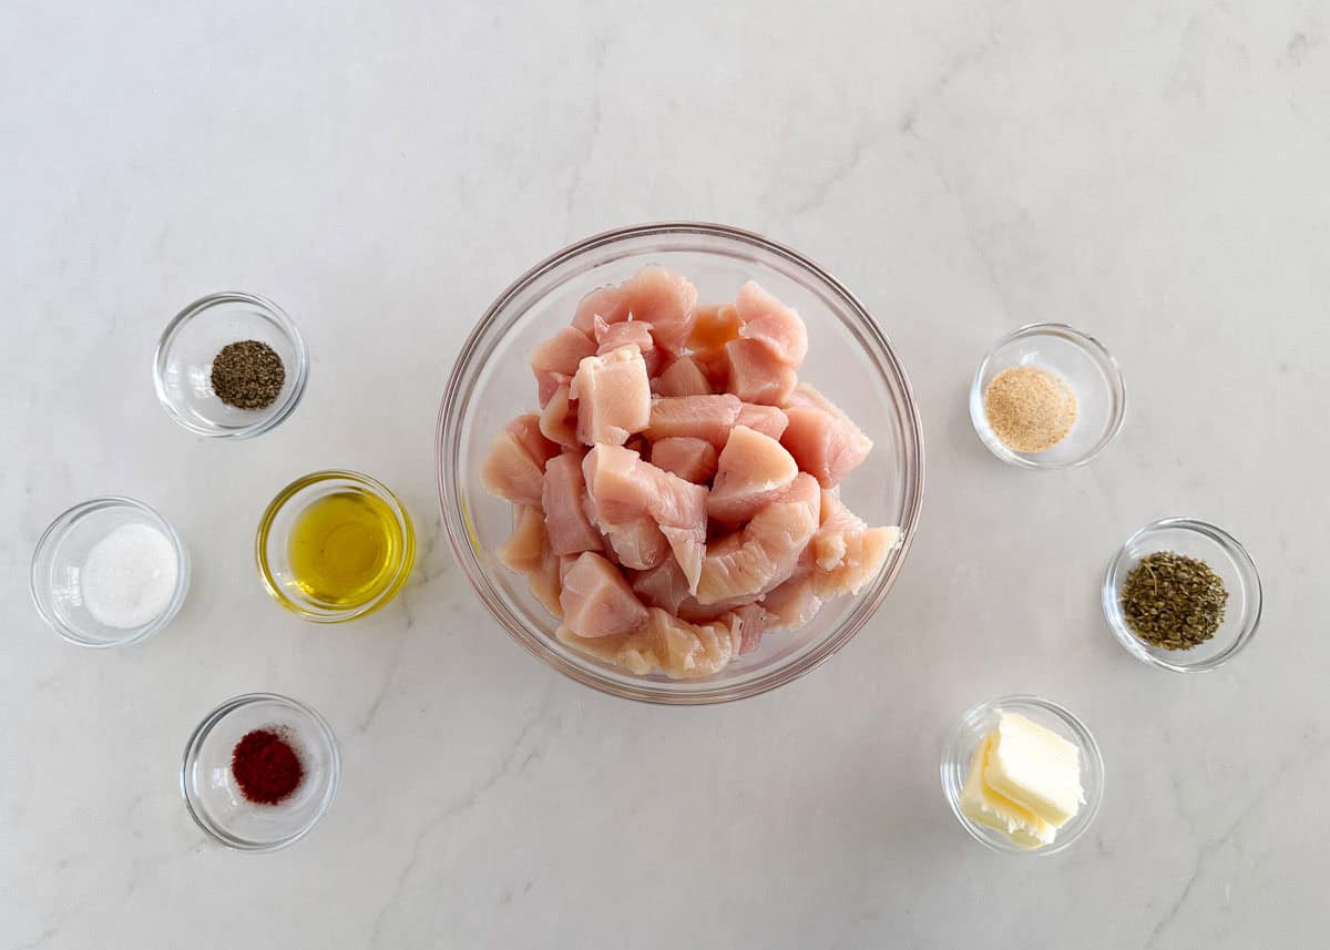
<svg viewBox="0 0 1330 950"><path fill-rule="evenodd" d="M249 410L227 406L213 393L213 358L227 343L257 339L282 358L286 382L273 404ZM295 323L271 301L222 291L181 310L157 343L153 382L170 416L190 432L247 439L274 428L305 393L310 355Z"/></svg>

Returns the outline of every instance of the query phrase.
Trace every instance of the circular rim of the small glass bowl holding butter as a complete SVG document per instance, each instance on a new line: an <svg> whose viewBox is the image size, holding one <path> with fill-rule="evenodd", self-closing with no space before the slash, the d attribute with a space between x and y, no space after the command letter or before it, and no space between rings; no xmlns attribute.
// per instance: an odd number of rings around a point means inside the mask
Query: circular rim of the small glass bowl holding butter
<svg viewBox="0 0 1330 950"><path fill-rule="evenodd" d="M1083 810L1077 813L1077 818L1080 818L1080 816L1084 816L1084 818L1076 826L1075 833L1068 836L1059 834L1053 840L1053 844L1043 848L1025 849L1017 846L1015 842L1007 846L1004 844L999 844L998 841L992 841L975 828L975 822L967 818L960 810L960 789L952 781L952 772L958 768L968 768L967 764L960 762L962 757L955 753L958 752L964 737L972 729L975 720L987 716L994 709L1009 708L1013 712L1020 712L1021 708L1028 709L1029 707L1035 707L1055 716L1072 732L1073 736L1076 736L1077 744L1084 749L1085 756L1093 761L1093 774L1099 781L1095 784L1093 792L1091 789L1084 789L1085 805ZM1104 768L1104 753L1099 748L1099 741L1095 738L1095 733L1089 730L1089 726L1085 725L1085 722L1083 722L1081 718L1067 707L1060 703L1055 703L1053 700L1044 699L1043 696L1036 696L1035 693L1012 693L1009 696L1000 696L995 700L988 700L987 703L971 707L962 713L947 732L943 741L939 772L942 777L942 794L947 800L947 805L951 808L951 813L956 817L956 821L959 821L960 826L966 829L966 833L990 850L999 854L1012 854L1017 857L1047 857L1049 854L1057 854L1059 852L1067 850L1084 837L1085 832L1095 824L1095 818L1099 817L1100 805L1104 802L1104 785L1108 781L1107 769ZM1081 774L1085 774L1084 764L1081 765ZM962 778L960 782L963 784L964 778Z"/></svg>

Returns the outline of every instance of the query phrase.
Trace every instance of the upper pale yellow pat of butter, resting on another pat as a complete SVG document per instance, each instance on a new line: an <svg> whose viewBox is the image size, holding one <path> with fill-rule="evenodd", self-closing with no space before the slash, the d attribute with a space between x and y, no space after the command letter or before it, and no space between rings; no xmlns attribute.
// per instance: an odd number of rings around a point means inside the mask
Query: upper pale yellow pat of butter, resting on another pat
<svg viewBox="0 0 1330 950"><path fill-rule="evenodd" d="M984 785L1061 828L1085 804L1080 750L1019 713L999 711L999 716L988 737Z"/></svg>

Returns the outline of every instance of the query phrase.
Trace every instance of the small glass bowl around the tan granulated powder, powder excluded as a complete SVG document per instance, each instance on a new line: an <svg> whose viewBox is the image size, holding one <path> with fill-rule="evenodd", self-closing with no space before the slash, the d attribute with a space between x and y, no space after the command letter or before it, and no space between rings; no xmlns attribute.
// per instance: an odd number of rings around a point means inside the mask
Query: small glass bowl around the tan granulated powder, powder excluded
<svg viewBox="0 0 1330 950"><path fill-rule="evenodd" d="M984 393L1003 370L1037 366L1056 373L1076 393L1076 423L1065 439L1043 452L1008 448L988 424ZM1127 412L1127 386L1117 361L1093 337L1064 323L1031 323L999 339L979 363L970 385L970 419L988 451L1017 468L1073 468L1112 442Z"/></svg>

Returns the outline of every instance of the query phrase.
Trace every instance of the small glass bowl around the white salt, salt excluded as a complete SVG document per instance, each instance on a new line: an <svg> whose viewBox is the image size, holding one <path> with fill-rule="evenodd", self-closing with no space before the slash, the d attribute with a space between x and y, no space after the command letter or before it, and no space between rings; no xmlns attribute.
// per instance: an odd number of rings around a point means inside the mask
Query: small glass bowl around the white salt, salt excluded
<svg viewBox="0 0 1330 950"><path fill-rule="evenodd" d="M153 620L141 627L109 627L84 604L81 572L88 554L124 524L148 524L176 550L176 589ZM106 648L146 640L172 621L189 591L189 551L165 518L132 498L94 498L63 512L43 532L32 555L32 603L56 633L80 647Z"/></svg>

